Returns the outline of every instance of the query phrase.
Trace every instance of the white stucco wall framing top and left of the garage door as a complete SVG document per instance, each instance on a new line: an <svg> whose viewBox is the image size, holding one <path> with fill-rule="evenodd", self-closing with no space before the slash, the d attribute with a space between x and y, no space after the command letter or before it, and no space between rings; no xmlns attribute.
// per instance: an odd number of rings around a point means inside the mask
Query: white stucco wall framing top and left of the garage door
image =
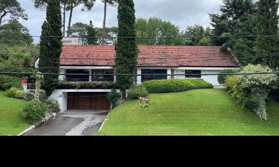
<svg viewBox="0 0 279 167"><path fill-rule="evenodd" d="M90 92L110 92L110 89L56 89L50 95L50 99L58 100L61 112L67 110L67 101L69 92L90 93Z"/></svg>

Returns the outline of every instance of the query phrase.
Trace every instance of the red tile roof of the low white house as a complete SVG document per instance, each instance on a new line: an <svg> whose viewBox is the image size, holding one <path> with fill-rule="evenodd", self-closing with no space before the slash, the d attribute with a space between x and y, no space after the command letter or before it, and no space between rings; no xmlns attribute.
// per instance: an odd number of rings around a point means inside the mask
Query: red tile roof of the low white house
<svg viewBox="0 0 279 167"><path fill-rule="evenodd" d="M139 46L137 67L239 67L220 47ZM61 65L114 66L114 46L64 45Z"/></svg>

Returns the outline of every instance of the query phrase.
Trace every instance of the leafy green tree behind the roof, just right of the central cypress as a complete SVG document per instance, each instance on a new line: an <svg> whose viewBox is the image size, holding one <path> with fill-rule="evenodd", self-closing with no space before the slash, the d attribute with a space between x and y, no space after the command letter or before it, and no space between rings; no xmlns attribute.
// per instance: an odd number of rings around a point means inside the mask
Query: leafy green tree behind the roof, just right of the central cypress
<svg viewBox="0 0 279 167"><path fill-rule="evenodd" d="M178 26L174 26L171 22L163 21L157 17L151 17L149 20L137 19L135 29L137 37L143 37L142 39L137 39L138 45L183 45L184 43Z"/></svg>

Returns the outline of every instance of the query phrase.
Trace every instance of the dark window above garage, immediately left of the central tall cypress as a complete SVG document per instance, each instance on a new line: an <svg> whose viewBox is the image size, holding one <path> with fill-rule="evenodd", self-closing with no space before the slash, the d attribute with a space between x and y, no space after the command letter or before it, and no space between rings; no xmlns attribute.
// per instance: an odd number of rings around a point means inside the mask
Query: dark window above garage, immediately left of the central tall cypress
<svg viewBox="0 0 279 167"><path fill-rule="evenodd" d="M92 74L114 74L114 70L92 70ZM92 81L114 81L114 75L93 75Z"/></svg>

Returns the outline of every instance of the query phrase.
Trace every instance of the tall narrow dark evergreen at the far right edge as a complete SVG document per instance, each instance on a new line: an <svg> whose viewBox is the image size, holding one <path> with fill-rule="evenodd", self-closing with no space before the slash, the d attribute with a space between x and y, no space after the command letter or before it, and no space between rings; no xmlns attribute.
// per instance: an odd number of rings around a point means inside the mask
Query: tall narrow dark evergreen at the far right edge
<svg viewBox="0 0 279 167"><path fill-rule="evenodd" d="M277 0L260 0L257 11L257 35L278 35ZM278 36L257 38L257 63L279 65Z"/></svg>

